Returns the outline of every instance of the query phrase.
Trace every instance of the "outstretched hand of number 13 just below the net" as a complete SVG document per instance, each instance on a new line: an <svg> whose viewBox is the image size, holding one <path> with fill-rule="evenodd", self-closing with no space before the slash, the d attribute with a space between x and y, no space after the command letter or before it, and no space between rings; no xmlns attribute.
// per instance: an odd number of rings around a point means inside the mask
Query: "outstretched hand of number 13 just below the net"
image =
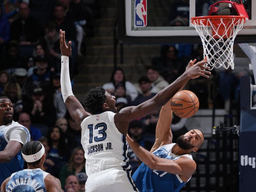
<svg viewBox="0 0 256 192"><path fill-rule="evenodd" d="M195 64L196 59L194 59L193 61L190 60L188 63L188 66L186 67L186 72L189 76L190 79L195 79L199 76L203 76L206 78L209 78L208 75L211 74L210 71L206 71L205 69L210 69L210 67L206 67L204 66L205 63L207 63L207 57L204 58L204 60L199 61ZM208 75L206 75L208 74Z"/></svg>

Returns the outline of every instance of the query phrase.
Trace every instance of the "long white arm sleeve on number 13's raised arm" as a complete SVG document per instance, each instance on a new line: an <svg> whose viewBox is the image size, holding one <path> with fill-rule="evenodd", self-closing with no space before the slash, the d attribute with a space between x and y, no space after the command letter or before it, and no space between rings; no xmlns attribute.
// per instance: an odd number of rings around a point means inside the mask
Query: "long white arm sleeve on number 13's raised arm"
<svg viewBox="0 0 256 192"><path fill-rule="evenodd" d="M69 77L68 56L64 55L61 56L60 86L64 102L69 96L74 96Z"/></svg>

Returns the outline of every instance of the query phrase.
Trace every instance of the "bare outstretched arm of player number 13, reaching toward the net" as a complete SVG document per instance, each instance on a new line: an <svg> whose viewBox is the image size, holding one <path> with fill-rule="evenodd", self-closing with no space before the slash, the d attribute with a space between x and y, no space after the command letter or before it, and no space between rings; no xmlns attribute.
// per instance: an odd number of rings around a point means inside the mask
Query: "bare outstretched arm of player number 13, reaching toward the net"
<svg viewBox="0 0 256 192"><path fill-rule="evenodd" d="M127 107L120 110L120 112L116 114L115 121L118 120L119 122L129 122L133 119L145 116L151 111L160 108L167 103L173 97L173 95L188 82L189 79L197 78L199 76L209 78L209 76L206 74L211 74L211 72L205 70L209 69L209 67L204 67L204 64L207 62L207 58L194 64L195 62L196 60L191 60L188 64L188 70L186 70L168 87L158 92L152 99L147 100L138 106Z"/></svg>

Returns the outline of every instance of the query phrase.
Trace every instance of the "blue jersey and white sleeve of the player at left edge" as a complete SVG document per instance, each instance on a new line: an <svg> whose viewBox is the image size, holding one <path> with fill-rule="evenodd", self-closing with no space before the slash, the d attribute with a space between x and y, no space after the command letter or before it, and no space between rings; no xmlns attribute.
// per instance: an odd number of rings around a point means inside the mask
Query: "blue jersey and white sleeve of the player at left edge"
<svg viewBox="0 0 256 192"><path fill-rule="evenodd" d="M3 151L6 145L10 140L17 140L17 138L11 138L11 132L14 130L21 130L23 134L21 134L20 143L23 145L30 141L30 134L26 127L23 127L21 124L12 121L10 125L2 125L0 126L0 151ZM12 158L12 160L8 163L0 163L0 185L3 181L10 177L12 173L20 171L23 169L24 160L21 156L20 152Z"/></svg>

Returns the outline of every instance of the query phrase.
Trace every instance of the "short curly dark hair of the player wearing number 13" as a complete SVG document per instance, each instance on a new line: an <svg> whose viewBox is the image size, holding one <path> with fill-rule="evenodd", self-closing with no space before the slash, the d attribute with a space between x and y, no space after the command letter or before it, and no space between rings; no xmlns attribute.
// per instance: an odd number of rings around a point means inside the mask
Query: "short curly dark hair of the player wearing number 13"
<svg viewBox="0 0 256 192"><path fill-rule="evenodd" d="M85 110L91 114L101 112L103 103L107 99L105 92L106 90L101 86L97 86L88 91L84 98Z"/></svg>

